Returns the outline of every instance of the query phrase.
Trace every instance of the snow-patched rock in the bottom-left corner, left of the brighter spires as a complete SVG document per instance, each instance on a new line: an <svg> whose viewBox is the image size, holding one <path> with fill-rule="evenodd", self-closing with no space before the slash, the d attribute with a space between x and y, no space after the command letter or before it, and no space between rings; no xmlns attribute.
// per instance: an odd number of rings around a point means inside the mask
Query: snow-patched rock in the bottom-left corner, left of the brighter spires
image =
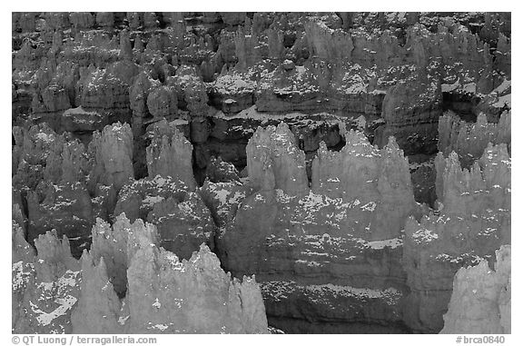
<svg viewBox="0 0 523 346"><path fill-rule="evenodd" d="M71 332L71 312L82 279L79 263L71 256L67 238L61 242L55 232L38 237L35 247L37 255L31 253L23 237L14 236L12 330Z"/></svg>

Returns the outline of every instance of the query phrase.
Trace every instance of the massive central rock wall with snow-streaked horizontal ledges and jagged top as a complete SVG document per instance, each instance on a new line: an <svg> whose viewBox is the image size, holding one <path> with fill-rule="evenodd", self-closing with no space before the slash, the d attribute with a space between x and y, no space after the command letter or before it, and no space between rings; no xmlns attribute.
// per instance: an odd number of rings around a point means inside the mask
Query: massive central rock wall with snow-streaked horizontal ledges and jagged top
<svg viewBox="0 0 523 346"><path fill-rule="evenodd" d="M277 158L288 157L286 151L299 151L291 144L273 140L271 150L280 154ZM247 154L250 162L252 152ZM400 230L407 215L418 212L408 163L397 144L391 141L380 151L355 132L347 134L340 153L321 143L312 191L306 195L273 187L285 186L278 179L287 182L294 167L287 163L272 173L272 186L254 183L254 193L209 184L207 193L220 200L211 209L225 223L217 243L224 267L240 275L255 272L271 323L289 331L304 331L292 319L330 321L343 332L368 332L369 324L403 331L407 288ZM234 208L234 219L227 223ZM344 305L351 309L338 309Z"/></svg>

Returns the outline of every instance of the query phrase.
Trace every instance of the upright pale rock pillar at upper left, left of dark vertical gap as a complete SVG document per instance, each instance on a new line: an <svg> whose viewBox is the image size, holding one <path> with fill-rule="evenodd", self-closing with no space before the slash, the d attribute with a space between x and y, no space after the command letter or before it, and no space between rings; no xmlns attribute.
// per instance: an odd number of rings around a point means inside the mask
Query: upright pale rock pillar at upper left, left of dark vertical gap
<svg viewBox="0 0 523 346"><path fill-rule="evenodd" d="M115 123L105 126L102 133L95 132L89 152L93 160L91 186L113 184L118 191L133 179L133 133L129 124Z"/></svg>

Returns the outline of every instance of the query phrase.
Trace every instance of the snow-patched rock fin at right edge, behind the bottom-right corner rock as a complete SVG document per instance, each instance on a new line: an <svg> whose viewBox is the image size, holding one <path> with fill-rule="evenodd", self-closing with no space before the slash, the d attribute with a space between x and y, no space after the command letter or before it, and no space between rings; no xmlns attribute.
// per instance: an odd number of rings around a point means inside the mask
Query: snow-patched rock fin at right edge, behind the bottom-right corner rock
<svg viewBox="0 0 523 346"><path fill-rule="evenodd" d="M441 154L440 154L441 155ZM405 226L403 265L410 304L406 314L417 331L443 327L454 274L510 243L510 158L505 144L488 144L478 162L461 169L457 153L439 156L439 211L410 218Z"/></svg>

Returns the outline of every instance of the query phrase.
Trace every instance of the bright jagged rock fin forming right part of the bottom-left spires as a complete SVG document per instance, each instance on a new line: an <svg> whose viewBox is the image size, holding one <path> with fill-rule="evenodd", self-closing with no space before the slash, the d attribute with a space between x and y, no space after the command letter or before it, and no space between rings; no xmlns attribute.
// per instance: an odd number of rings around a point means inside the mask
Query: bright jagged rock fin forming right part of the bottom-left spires
<svg viewBox="0 0 523 346"><path fill-rule="evenodd" d="M127 274L130 331L267 332L260 287L254 279L231 280L206 245L182 262L163 248L143 246Z"/></svg>

